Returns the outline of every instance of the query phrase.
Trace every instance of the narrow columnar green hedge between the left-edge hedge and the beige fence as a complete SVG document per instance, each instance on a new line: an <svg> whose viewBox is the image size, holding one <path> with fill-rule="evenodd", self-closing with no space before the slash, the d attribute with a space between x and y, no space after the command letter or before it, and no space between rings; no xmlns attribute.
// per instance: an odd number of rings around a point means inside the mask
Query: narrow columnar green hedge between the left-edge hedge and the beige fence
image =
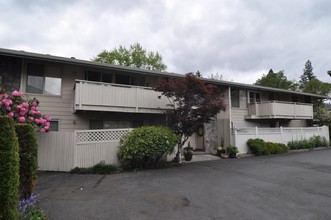
<svg viewBox="0 0 331 220"><path fill-rule="evenodd" d="M38 143L32 125L16 124L15 130L20 149L20 194L26 199L33 191L32 180L37 178Z"/></svg>

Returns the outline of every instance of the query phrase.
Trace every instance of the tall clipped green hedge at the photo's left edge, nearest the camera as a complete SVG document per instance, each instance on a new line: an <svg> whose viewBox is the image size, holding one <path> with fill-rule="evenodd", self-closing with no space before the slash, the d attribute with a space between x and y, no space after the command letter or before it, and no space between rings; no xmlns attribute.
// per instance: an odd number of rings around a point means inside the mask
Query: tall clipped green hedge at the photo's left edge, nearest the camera
<svg viewBox="0 0 331 220"><path fill-rule="evenodd" d="M0 117L0 219L18 218L18 151L13 119Z"/></svg>

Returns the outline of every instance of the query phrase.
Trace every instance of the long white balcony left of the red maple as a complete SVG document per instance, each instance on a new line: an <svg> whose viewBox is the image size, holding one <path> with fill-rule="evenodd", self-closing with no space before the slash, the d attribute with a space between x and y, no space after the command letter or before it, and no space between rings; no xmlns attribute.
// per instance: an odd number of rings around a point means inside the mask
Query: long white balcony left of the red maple
<svg viewBox="0 0 331 220"><path fill-rule="evenodd" d="M74 110L163 113L169 100L150 87L76 80Z"/></svg>

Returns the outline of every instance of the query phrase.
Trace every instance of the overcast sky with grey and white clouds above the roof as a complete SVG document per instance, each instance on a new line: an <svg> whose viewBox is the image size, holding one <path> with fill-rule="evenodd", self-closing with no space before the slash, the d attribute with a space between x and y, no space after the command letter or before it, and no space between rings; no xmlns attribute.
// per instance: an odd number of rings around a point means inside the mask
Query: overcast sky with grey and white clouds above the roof
<svg viewBox="0 0 331 220"><path fill-rule="evenodd" d="M168 72L254 83L299 80L309 59L330 82L330 0L0 0L0 48L91 59L139 42Z"/></svg>

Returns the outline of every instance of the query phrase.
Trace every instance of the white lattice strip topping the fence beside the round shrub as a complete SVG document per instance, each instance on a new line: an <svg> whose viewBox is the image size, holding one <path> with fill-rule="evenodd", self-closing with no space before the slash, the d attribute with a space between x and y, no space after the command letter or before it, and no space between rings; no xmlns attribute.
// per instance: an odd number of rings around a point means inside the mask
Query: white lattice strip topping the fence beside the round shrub
<svg viewBox="0 0 331 220"><path fill-rule="evenodd" d="M78 130L76 144L104 143L118 141L132 129Z"/></svg>

